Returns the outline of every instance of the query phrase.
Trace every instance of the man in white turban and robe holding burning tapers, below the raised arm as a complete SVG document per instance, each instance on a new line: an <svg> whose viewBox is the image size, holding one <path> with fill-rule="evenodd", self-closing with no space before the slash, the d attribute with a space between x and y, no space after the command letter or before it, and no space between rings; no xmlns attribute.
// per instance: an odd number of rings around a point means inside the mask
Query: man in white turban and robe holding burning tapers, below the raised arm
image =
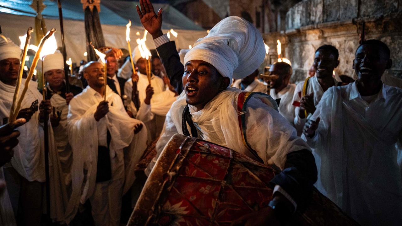
<svg viewBox="0 0 402 226"><path fill-rule="evenodd" d="M127 95L127 110L133 112L135 118L145 123L148 129L148 140L155 140L162 131L163 122L170 106L176 100L170 90L166 90L163 79L152 74L151 84L146 73L147 60L141 57L138 46L133 51L133 62L138 68L137 75L133 75L124 85L124 93ZM123 78L129 78L133 73L131 62L127 60L119 71ZM139 106L132 101L133 81L137 80L137 95Z"/></svg>

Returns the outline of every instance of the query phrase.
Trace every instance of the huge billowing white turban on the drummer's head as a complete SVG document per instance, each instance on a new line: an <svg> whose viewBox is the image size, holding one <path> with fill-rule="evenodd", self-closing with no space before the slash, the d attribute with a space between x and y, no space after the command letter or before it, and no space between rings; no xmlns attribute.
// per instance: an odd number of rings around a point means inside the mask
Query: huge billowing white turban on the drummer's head
<svg viewBox="0 0 402 226"><path fill-rule="evenodd" d="M260 32L243 18L229 16L194 43L184 62L203 60L232 81L250 75L264 58L265 45Z"/></svg>

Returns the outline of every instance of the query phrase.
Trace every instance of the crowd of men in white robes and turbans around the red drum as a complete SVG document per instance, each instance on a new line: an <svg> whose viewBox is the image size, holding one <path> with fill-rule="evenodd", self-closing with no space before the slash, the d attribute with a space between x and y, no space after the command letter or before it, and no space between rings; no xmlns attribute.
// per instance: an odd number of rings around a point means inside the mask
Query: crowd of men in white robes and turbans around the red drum
<svg viewBox="0 0 402 226"><path fill-rule="evenodd" d="M135 68L112 47L105 50L106 80L103 63L91 61L74 83L84 86L66 87L63 55L56 51L43 59L45 90L31 81L17 120L10 122L21 49L0 39L2 225L44 224L45 146L48 218L61 225L124 224L124 209L132 210L140 192L133 188L136 177L151 173L174 134L280 169L270 181L267 207L232 225L280 225L303 209L313 186L361 225L402 224L402 89L381 82L392 66L385 43L371 39L357 47L356 81L333 75L342 56L322 45L306 80L291 84L292 67L285 62L258 71L264 41L243 18L223 19L192 49L178 52L162 33L162 9L139 2L139 18L157 51L150 79L138 47ZM24 84L22 79L21 89ZM244 95L247 101L240 103ZM156 154L139 175L137 163L152 144Z"/></svg>

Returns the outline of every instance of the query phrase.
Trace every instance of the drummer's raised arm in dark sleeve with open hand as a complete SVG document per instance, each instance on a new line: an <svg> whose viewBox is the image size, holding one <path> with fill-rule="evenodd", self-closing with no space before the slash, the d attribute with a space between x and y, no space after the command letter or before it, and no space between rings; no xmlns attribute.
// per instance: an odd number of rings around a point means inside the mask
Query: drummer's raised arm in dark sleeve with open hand
<svg viewBox="0 0 402 226"><path fill-rule="evenodd" d="M139 4L141 10L137 6L137 13L140 21L154 39L156 50L158 50L160 60L170 79L170 84L180 94L183 91L182 76L184 66L180 63L180 57L174 41L169 41L168 37L162 33L162 9L155 13L154 6L152 6L150 0L140 0Z"/></svg>

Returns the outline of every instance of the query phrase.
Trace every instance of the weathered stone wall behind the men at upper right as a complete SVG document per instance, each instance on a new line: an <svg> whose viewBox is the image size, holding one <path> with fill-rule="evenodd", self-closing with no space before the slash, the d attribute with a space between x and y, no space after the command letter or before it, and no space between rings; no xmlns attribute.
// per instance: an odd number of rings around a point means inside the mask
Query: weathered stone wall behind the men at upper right
<svg viewBox="0 0 402 226"><path fill-rule="evenodd" d="M275 58L276 40L283 56L292 62L292 81L304 80L320 45L334 45L340 64L335 72L356 78L352 69L362 24L365 39L379 39L391 49L393 66L386 71L388 84L402 84L402 0L304 0L289 9L286 30L264 35ZM277 57L276 57L277 58Z"/></svg>

